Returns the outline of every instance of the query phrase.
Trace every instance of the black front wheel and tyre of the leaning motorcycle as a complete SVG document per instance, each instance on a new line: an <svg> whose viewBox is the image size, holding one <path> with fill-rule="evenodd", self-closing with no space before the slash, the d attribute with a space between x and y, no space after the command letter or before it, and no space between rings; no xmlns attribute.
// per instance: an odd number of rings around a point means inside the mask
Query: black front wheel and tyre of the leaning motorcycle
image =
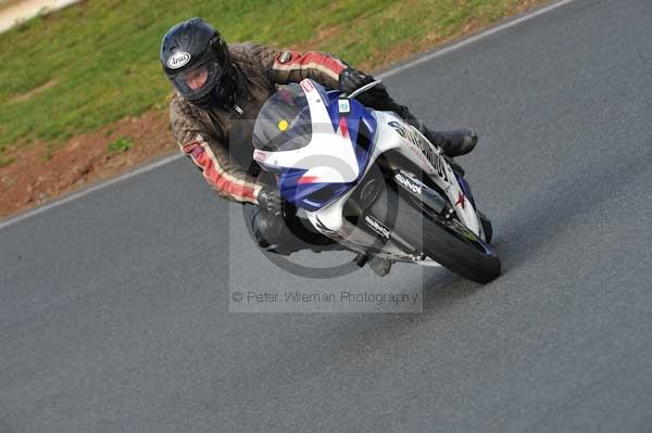
<svg viewBox="0 0 652 433"><path fill-rule="evenodd" d="M398 238L461 277L488 283L500 276L498 254L473 231L455 219L429 216L389 187L371 213L381 220L389 217L388 222L393 219L388 226Z"/></svg>

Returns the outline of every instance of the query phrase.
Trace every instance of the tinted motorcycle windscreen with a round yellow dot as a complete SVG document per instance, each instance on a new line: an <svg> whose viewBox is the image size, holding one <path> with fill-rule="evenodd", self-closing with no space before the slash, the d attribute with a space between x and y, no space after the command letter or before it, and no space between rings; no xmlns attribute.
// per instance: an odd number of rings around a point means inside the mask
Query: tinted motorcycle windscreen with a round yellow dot
<svg viewBox="0 0 652 433"><path fill-rule="evenodd" d="M308 100L301 86L292 82L261 109L253 127L253 147L268 152L291 151L308 145L311 139Z"/></svg>

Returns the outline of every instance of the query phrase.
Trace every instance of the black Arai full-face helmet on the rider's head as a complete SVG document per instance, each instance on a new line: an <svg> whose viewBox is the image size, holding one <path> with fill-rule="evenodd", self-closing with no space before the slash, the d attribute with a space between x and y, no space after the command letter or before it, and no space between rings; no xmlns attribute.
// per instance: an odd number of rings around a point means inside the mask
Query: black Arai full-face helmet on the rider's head
<svg viewBox="0 0 652 433"><path fill-rule="evenodd" d="M227 106L235 92L228 48L210 24L190 18L172 27L161 42L161 65L175 89L201 106Z"/></svg>

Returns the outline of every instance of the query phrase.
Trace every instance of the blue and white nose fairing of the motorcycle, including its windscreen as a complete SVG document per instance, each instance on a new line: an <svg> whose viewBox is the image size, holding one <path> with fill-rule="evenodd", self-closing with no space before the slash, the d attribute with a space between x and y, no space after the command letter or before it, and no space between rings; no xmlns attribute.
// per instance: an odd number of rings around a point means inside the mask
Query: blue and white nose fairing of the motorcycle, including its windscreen
<svg viewBox="0 0 652 433"><path fill-rule="evenodd" d="M278 175L285 200L310 212L350 191L369 164L376 119L339 95L311 80L291 84L263 105L254 127L254 160Z"/></svg>

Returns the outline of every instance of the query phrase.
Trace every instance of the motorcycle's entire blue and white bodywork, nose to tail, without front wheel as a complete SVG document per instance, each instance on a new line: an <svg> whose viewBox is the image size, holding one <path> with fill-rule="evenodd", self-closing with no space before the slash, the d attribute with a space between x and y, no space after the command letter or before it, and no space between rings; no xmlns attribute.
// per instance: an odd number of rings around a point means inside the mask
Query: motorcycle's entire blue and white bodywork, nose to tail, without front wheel
<svg viewBox="0 0 652 433"><path fill-rule="evenodd" d="M377 238L344 218L344 206L375 161L398 153L428 176L460 221L484 239L471 191L441 150L394 113L368 110L339 94L305 79L277 91L263 105L254 126L253 157L277 174L283 198L305 209L317 231L366 251ZM375 254L413 260L394 242Z"/></svg>

